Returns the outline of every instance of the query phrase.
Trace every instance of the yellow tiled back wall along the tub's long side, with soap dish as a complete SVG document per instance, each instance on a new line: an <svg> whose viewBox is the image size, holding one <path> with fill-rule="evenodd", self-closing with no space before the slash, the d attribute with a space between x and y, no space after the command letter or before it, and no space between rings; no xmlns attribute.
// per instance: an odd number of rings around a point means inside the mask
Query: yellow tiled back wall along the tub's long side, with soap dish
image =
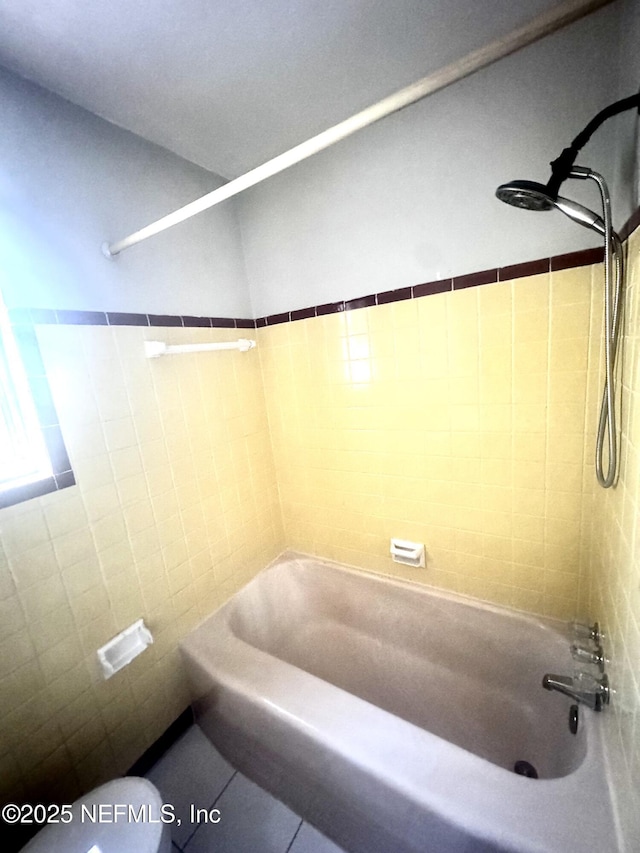
<svg viewBox="0 0 640 853"><path fill-rule="evenodd" d="M258 330L288 545L573 618L597 269Z"/></svg>

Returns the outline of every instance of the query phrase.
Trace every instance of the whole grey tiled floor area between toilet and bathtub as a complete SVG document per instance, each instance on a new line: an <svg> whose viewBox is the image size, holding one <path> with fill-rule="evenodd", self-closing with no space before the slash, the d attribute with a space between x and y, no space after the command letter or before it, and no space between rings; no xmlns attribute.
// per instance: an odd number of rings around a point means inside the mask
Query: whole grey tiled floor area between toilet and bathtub
<svg viewBox="0 0 640 853"><path fill-rule="evenodd" d="M172 805L173 853L343 853L228 764L192 726L147 773ZM217 822L207 822L205 809ZM217 810L217 811L211 811Z"/></svg>

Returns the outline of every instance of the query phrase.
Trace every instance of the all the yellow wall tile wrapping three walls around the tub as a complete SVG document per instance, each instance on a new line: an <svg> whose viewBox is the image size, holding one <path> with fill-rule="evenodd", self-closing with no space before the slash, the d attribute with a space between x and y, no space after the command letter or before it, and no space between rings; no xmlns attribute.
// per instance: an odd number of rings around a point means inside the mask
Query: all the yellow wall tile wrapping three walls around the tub
<svg viewBox="0 0 640 853"><path fill-rule="evenodd" d="M285 547L609 624L618 789L639 787L639 243L610 492L600 266L267 327L246 354L143 356L235 331L39 327L79 485L0 512L0 793L126 770L188 702L179 640ZM105 682L95 649L140 616L156 642Z"/></svg>

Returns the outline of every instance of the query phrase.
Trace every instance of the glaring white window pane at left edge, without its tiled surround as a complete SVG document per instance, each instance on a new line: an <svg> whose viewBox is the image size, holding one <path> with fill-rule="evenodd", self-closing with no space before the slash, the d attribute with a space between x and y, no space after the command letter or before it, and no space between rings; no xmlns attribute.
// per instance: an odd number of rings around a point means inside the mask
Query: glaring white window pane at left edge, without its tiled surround
<svg viewBox="0 0 640 853"><path fill-rule="evenodd" d="M52 475L27 374L0 297L0 492Z"/></svg>

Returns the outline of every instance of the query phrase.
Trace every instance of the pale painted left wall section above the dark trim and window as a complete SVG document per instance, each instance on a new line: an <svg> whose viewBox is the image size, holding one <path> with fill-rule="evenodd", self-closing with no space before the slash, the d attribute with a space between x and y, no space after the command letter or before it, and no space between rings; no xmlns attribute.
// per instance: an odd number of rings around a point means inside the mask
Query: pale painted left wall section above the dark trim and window
<svg viewBox="0 0 640 853"><path fill-rule="evenodd" d="M105 240L223 181L0 69L9 308L250 317L233 201L113 260Z"/></svg>

